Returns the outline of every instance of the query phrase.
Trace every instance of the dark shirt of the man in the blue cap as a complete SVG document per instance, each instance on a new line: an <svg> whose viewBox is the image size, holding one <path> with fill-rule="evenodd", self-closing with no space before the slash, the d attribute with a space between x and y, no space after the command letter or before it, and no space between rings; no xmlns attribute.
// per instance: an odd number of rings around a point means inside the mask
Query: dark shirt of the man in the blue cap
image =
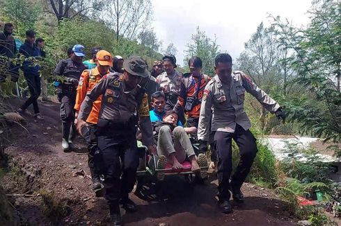
<svg viewBox="0 0 341 226"><path fill-rule="evenodd" d="M74 62L71 58L58 62L54 73L57 76L65 76L67 78L75 78L79 80L81 73L87 69L82 62Z"/></svg>

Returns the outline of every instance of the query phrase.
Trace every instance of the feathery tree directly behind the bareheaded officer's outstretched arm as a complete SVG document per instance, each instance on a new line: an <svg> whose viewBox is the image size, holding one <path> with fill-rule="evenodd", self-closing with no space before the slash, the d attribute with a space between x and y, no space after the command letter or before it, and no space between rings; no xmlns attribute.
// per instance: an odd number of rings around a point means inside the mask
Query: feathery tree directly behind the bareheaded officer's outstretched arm
<svg viewBox="0 0 341 226"><path fill-rule="evenodd" d="M281 73L281 51L278 49L276 34L273 27L265 28L261 23L251 39L245 44L245 50L237 59L237 68L251 76L258 87L264 92L281 92L283 74ZM260 115L260 129L265 131L269 119L267 110L254 101L248 101L253 111Z"/></svg>

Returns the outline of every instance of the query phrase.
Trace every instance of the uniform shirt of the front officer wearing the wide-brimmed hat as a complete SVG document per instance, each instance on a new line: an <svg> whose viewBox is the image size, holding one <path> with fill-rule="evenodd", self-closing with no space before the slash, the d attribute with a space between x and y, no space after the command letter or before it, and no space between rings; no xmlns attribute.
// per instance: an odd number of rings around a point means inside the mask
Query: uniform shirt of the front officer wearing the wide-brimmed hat
<svg viewBox="0 0 341 226"><path fill-rule="evenodd" d="M78 119L86 121L93 107L93 102L102 95L102 105L99 119L113 121L114 123L126 123L138 112L139 124L142 132L143 144L154 144L152 137L152 123L150 123L150 114L148 107L148 95L144 94L141 103L138 103L140 94L139 85L131 91L125 91L125 82L123 76L117 73L109 73L86 94Z"/></svg>

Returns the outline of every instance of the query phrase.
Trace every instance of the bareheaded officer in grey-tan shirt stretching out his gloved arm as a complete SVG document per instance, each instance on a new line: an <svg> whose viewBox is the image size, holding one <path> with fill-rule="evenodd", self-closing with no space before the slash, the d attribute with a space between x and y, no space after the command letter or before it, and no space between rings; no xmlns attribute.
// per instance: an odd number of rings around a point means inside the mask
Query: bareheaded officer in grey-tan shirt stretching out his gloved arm
<svg viewBox="0 0 341 226"><path fill-rule="evenodd" d="M209 122L212 116L214 144L218 155L218 197L219 208L223 213L230 213L230 191L237 202L244 202L241 185L250 172L253 159L257 153L256 139L250 132L251 123L244 112L245 92L257 98L269 112L285 119L282 107L273 101L265 92L241 71L232 72L232 58L227 53L216 56L216 76L205 87L200 109L198 139L202 141L200 149L206 149L209 140ZM213 115L212 115L213 108ZM240 151L240 162L235 174L232 171L232 139Z"/></svg>

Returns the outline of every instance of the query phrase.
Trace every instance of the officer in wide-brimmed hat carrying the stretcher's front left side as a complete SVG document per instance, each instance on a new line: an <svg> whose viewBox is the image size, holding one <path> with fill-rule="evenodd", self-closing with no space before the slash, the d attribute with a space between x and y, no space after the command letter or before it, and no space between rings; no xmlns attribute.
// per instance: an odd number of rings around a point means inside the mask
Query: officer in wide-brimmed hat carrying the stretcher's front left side
<svg viewBox="0 0 341 226"><path fill-rule="evenodd" d="M109 202L113 225L121 225L119 204L127 211L136 210L136 205L128 196L134 187L138 167L136 114L143 144L148 146L150 153L156 153L148 96L145 89L138 85L141 78L147 78L150 74L143 60L136 56L125 60L123 68L121 76L109 73L88 92L81 104L77 121L77 128L81 130L86 125L93 102L102 95L97 141L104 166L105 198Z"/></svg>

